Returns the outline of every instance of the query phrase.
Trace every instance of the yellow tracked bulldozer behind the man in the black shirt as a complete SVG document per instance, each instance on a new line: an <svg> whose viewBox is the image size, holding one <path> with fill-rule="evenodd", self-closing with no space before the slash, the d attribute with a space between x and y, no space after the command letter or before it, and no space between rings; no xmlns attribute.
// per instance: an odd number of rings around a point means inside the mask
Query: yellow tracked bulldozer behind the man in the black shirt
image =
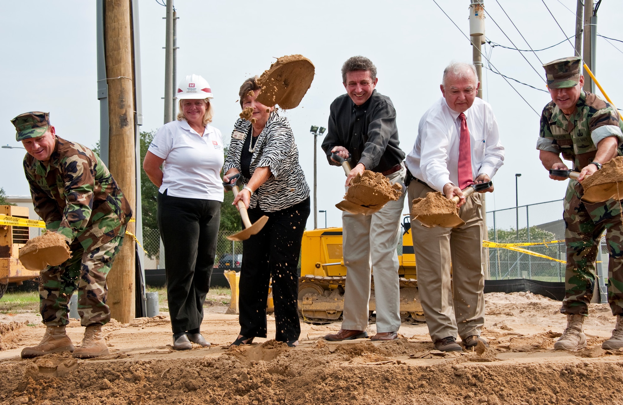
<svg viewBox="0 0 623 405"><path fill-rule="evenodd" d="M402 255L398 256L400 316L402 321L424 322L417 292L416 257L409 216L402 222ZM370 291L370 315L375 310L374 269ZM342 255L342 229L324 228L303 232L301 277L298 279L298 311L308 322L340 319L344 310L346 267Z"/></svg>

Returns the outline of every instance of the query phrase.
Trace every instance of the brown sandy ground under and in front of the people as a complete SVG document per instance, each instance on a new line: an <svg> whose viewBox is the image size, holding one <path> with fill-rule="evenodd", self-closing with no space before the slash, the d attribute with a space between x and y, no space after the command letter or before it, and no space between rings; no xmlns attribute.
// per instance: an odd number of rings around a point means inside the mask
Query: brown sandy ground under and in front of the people
<svg viewBox="0 0 623 405"><path fill-rule="evenodd" d="M530 293L486 299L490 348L482 357L435 352L426 324L402 324L401 339L373 343L324 342L339 322L303 323L295 349L256 338L230 350L237 316L211 307L202 324L211 348L171 350L163 312L107 324L107 357L22 360L21 349L45 329L37 314L0 316L0 404L623 404L623 351L601 349L615 321L607 305L591 306L587 350L554 352L565 324L559 302ZM269 316L269 337L274 328ZM79 322L67 330L79 344Z"/></svg>

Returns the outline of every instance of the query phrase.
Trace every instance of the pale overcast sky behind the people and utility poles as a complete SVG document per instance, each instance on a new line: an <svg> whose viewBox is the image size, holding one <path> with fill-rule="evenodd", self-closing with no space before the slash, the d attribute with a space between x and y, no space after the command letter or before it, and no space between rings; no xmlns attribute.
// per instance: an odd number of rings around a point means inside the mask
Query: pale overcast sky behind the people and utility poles
<svg viewBox="0 0 623 405"><path fill-rule="evenodd" d="M498 0L533 49L564 40L540 0ZM437 0L468 34L468 0ZM574 33L575 0L545 0L567 36ZM353 6L356 4L356 7ZM417 123L441 96L439 83L451 60L471 61L472 48L432 1L176 1L178 11L178 77L195 73L210 83L216 116L212 123L227 140L240 112L238 89L245 78L269 68L275 57L301 53L316 66L312 87L297 109L285 114L292 124L300 164L313 184L313 137L310 125L327 124L331 101L345 93L342 63L353 55L370 58L378 68L377 90L389 96L397 111L402 149L411 151ZM565 8L564 6L568 7ZM487 38L519 48L528 45L504 15L497 1L486 0ZM88 147L99 139L99 107L95 54L95 1L4 2L0 16L0 120L2 145L19 146L10 120L27 111L49 111L57 134ZM37 12L32 12L36 10ZM143 130L163 124L164 25L166 9L155 0L140 2L140 58L143 82ZM598 12L597 32L623 40L621 2L604 0ZM27 26L24 20L28 20ZM503 32L510 37L505 37ZM573 39L571 39L573 42ZM619 50L597 38L597 78L612 101L623 106L623 43ZM485 45L501 73L545 89L541 62L523 53L536 72L515 50ZM536 52L545 63L573 55L568 42ZM536 111L551 100L548 93L511 81ZM505 165L493 179L495 192L487 194L487 210L515 206L515 173L519 204L563 198L566 183L549 180L535 150L539 115L503 80L483 70L483 99L497 116ZM599 93L597 91L597 93ZM343 171L329 166L318 138L318 209L328 211L328 225L341 226L335 208L343 196ZM0 149L0 187L7 194L28 194L22 172L23 150ZM562 207L560 207L562 211ZM405 206L405 213L407 207ZM553 213L551 221L561 214ZM323 214L318 225L324 225ZM491 224L490 224L491 225ZM310 215L308 229L313 227Z"/></svg>

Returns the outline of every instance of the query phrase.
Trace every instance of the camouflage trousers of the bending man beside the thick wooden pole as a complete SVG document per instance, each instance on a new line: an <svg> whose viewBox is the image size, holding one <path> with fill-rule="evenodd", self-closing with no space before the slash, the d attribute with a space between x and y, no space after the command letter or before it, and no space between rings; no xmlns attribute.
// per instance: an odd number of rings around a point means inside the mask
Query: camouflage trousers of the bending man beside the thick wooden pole
<svg viewBox="0 0 623 405"><path fill-rule="evenodd" d="M76 289L82 326L104 325L110 321L106 276L121 249L124 234L125 228L122 228L117 237L90 252L74 242L70 247L72 257L62 265L41 271L39 311L45 325L69 324L69 299Z"/></svg>

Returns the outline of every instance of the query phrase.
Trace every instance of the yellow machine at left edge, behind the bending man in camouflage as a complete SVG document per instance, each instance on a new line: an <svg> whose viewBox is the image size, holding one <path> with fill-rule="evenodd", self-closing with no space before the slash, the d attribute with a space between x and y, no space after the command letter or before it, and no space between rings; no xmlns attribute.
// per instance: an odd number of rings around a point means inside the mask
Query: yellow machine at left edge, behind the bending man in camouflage
<svg viewBox="0 0 623 405"><path fill-rule="evenodd" d="M3 215L28 219L28 208L0 206L0 216ZM0 298L9 283L21 284L39 277L39 271L27 270L19 262L19 249L28 239L28 227L0 225Z"/></svg>

